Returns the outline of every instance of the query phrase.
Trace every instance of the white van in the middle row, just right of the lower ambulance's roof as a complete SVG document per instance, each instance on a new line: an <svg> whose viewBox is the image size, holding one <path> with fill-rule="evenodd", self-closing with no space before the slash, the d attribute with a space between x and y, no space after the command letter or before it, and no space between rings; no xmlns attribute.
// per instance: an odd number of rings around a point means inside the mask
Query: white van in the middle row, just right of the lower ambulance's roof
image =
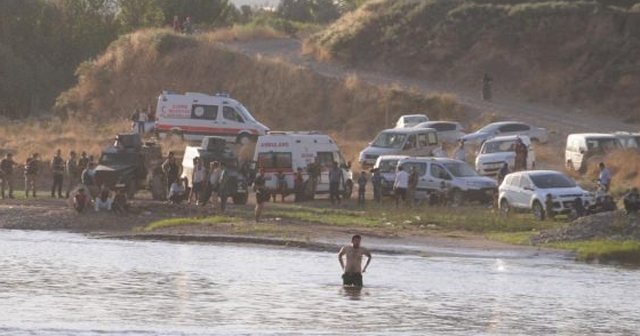
<svg viewBox="0 0 640 336"><path fill-rule="evenodd" d="M380 132L360 152L358 162L363 168L376 163L380 155L441 156L438 132L433 128L391 128Z"/></svg>

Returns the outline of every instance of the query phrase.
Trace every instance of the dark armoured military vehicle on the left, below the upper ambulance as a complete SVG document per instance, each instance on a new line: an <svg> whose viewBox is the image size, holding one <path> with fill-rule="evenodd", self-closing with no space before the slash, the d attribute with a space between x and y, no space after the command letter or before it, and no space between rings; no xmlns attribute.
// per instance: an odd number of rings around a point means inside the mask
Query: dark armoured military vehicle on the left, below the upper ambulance
<svg viewBox="0 0 640 336"><path fill-rule="evenodd" d="M99 187L110 189L117 185L133 198L143 189L151 191L153 199L166 198L167 191L159 169L162 164L162 150L153 142L142 143L140 135L119 134L112 146L105 148L96 167L95 180Z"/></svg>

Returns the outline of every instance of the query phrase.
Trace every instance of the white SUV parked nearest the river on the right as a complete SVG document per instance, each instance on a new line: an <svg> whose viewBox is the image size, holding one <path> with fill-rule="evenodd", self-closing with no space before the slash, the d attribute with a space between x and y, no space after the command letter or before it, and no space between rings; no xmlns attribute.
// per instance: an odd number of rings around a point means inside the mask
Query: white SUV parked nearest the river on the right
<svg viewBox="0 0 640 336"><path fill-rule="evenodd" d="M594 204L593 195L567 175L554 170L535 170L507 175L499 188L498 206L503 213L531 211L536 219L543 220L549 210L545 205L548 194L556 214L570 213L578 197L585 208Z"/></svg>

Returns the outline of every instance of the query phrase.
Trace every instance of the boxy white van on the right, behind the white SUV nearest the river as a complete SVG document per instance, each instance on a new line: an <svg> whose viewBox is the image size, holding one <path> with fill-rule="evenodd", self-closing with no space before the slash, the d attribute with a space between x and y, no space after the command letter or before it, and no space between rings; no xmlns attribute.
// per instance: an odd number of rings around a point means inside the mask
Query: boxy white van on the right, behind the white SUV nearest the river
<svg viewBox="0 0 640 336"><path fill-rule="evenodd" d="M575 133L567 137L564 160L568 169L584 173L590 159L597 160L606 154L622 149L620 140L603 133Z"/></svg>

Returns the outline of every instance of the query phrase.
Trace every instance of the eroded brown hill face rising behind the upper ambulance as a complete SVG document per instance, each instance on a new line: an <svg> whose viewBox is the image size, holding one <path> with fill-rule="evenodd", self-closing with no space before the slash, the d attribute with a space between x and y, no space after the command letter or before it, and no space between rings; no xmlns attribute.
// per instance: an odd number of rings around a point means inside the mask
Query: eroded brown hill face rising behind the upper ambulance
<svg viewBox="0 0 640 336"><path fill-rule="evenodd" d="M444 119L463 115L449 96L369 85L355 76L327 78L284 62L234 53L210 37L163 30L126 35L95 61L80 66L78 85L58 98L57 108L108 121L126 118L135 108L155 109L161 90L224 91L271 129L322 130L360 140L370 140L406 113Z"/></svg>

